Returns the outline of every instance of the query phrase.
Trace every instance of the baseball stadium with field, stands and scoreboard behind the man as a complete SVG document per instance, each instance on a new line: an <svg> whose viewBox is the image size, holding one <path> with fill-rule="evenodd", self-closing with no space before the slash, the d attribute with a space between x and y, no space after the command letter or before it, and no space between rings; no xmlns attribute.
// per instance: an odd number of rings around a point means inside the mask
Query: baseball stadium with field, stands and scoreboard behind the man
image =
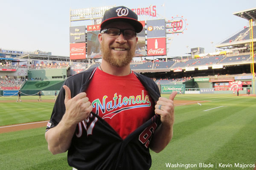
<svg viewBox="0 0 256 170"><path fill-rule="evenodd" d="M49 152L44 133L64 81L100 65L99 10L111 7L70 10L70 56L0 48L1 170L72 169L67 152ZM131 70L153 79L163 97L178 92L172 141L151 152L151 170L256 170L256 8L233 15L248 26L213 53L197 47L182 57L167 55L166 37L186 31L187 21L140 21ZM73 26L87 20L94 25Z"/></svg>

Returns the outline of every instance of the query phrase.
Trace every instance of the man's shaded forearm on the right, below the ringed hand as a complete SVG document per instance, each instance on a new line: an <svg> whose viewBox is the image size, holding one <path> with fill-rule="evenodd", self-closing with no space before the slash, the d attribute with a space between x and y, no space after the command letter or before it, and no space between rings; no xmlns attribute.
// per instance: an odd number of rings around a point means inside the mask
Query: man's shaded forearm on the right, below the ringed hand
<svg viewBox="0 0 256 170"><path fill-rule="evenodd" d="M173 125L161 124L154 132L150 142L150 149L156 153L161 152L171 141L173 135Z"/></svg>

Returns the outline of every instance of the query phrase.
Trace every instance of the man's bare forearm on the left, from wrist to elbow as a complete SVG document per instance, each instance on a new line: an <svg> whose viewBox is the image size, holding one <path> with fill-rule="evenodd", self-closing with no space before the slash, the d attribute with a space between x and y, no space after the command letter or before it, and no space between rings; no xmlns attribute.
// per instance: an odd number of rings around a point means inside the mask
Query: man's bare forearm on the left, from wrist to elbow
<svg viewBox="0 0 256 170"><path fill-rule="evenodd" d="M61 120L56 127L52 127L45 133L48 142L48 150L52 154L64 153L70 147L76 125Z"/></svg>

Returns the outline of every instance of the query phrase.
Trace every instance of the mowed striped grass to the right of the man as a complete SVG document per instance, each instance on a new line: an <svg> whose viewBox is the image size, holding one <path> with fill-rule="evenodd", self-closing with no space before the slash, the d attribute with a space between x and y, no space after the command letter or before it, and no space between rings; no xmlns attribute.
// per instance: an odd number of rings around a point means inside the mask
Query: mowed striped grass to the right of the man
<svg viewBox="0 0 256 170"><path fill-rule="evenodd" d="M255 164L255 97L212 94L184 95L175 99L190 99L189 96L194 99L205 96L204 99L211 102L175 107L173 139L161 153L151 152L151 169L170 169L167 163L196 164L193 170L205 169L200 168L199 163L212 163L216 169L221 169L219 163L233 165L228 170L237 170L235 163ZM217 108L222 105L226 107ZM211 108L215 109L204 111ZM175 170L184 169L175 167Z"/></svg>

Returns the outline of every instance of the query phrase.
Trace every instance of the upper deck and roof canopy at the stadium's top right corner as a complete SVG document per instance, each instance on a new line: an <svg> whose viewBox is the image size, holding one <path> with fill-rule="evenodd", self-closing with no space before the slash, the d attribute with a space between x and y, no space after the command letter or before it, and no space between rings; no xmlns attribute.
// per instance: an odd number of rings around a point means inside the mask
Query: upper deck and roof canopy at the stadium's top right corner
<svg viewBox="0 0 256 170"><path fill-rule="evenodd" d="M233 13L233 15L236 15L238 17L244 18L245 20L253 20L254 23L256 23L256 8L250 8L244 11L239 11ZM256 26L253 26L256 27ZM228 37L225 41L220 42L219 44L215 45L216 48L224 48L224 49L230 49L230 50L245 50L249 49L251 40L247 37L247 39L244 39L246 35L249 34L249 28L244 28L244 30L239 31L239 33L234 34L233 37ZM256 33L253 34L253 42L256 42L255 36ZM229 41L230 40L230 41Z"/></svg>

